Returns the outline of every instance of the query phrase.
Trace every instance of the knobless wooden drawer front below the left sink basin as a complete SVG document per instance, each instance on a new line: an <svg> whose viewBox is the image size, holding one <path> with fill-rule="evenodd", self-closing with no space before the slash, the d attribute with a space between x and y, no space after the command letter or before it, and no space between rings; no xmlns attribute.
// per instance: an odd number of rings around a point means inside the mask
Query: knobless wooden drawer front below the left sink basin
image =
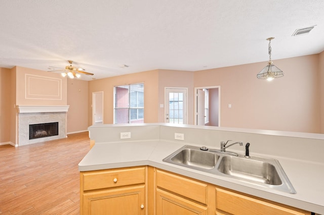
<svg viewBox="0 0 324 215"><path fill-rule="evenodd" d="M156 170L156 185L173 193L207 204L207 184Z"/></svg>

